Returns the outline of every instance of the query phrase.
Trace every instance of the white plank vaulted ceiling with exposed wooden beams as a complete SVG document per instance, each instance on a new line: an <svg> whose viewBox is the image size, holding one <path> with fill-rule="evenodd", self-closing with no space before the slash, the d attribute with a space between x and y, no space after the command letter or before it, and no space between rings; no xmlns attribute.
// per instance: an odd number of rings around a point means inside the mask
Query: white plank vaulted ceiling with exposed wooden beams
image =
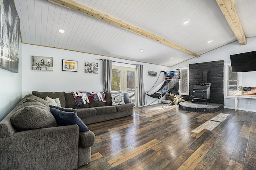
<svg viewBox="0 0 256 170"><path fill-rule="evenodd" d="M14 3L20 16L22 43L164 66L200 57L236 40L243 45L246 37L256 37L255 0ZM183 24L186 20L188 23Z"/></svg>

